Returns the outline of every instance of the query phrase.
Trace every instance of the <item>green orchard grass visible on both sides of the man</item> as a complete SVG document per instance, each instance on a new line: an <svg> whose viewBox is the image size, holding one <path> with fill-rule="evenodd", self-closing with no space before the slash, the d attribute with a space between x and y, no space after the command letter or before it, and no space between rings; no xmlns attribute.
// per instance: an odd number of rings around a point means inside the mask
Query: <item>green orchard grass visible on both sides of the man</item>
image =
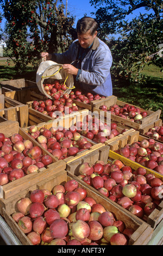
<svg viewBox="0 0 163 256"><path fill-rule="evenodd" d="M12 62L8 65L6 60L0 58L0 81L24 78L35 82L36 71L32 65L28 65L26 71L19 74ZM161 109L163 119L163 72L157 66L149 65L145 66L142 73L148 77L145 84L129 83L127 80L117 81L112 78L113 95L117 96L118 100L146 110Z"/></svg>

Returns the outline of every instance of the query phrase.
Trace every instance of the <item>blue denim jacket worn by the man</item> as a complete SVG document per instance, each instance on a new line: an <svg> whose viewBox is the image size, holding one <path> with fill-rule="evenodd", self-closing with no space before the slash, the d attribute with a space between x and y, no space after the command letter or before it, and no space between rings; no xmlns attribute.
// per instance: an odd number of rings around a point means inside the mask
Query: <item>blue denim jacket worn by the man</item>
<svg viewBox="0 0 163 256"><path fill-rule="evenodd" d="M72 42L66 52L52 54L52 60L59 64L70 64L78 59L78 49L79 42L77 39ZM81 72L78 77L80 88L92 94L111 96L111 64L112 56L109 47L96 37L91 50L86 54L81 63ZM74 86L76 86L75 82Z"/></svg>

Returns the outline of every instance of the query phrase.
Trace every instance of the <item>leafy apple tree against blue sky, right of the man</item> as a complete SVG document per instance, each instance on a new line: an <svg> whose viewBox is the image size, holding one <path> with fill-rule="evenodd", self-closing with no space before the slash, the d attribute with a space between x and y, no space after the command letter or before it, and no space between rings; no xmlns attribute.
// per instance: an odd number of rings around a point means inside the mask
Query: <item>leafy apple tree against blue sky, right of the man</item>
<svg viewBox="0 0 163 256"><path fill-rule="evenodd" d="M98 36L111 49L115 77L142 82L145 77L140 71L145 64L162 66L160 0L90 0L90 3L96 8ZM129 19L135 11L139 14Z"/></svg>

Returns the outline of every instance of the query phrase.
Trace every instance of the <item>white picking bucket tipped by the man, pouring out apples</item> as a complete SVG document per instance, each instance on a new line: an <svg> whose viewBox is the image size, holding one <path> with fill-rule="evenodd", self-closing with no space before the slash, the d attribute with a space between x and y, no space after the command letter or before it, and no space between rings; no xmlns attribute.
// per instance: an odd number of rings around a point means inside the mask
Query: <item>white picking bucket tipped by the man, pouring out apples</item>
<svg viewBox="0 0 163 256"><path fill-rule="evenodd" d="M50 99L53 99L51 95L46 93L43 87L43 82L47 79L49 79L51 83L53 83L53 80L60 80L60 82L64 82L67 87L64 94L69 94L72 88L74 88L73 75L67 74L65 70L62 69L62 64L52 62L51 60L40 63L36 73L36 84L42 94L45 94Z"/></svg>

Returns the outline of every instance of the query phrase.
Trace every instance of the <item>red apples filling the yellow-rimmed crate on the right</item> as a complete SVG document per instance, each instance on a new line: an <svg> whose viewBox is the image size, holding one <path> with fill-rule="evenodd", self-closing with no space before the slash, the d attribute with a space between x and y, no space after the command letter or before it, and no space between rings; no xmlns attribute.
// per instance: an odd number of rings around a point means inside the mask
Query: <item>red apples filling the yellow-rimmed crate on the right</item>
<svg viewBox="0 0 163 256"><path fill-rule="evenodd" d="M79 179L145 221L162 201L162 180L144 167L133 170L120 160L97 161L81 164L78 171Z"/></svg>

